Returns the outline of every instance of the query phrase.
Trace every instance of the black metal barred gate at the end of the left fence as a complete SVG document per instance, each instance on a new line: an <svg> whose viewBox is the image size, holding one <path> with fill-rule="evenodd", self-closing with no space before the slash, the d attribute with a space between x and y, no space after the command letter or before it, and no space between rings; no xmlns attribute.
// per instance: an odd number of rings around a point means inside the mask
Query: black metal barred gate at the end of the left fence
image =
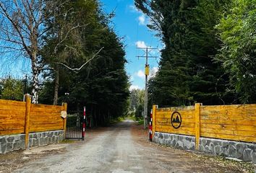
<svg viewBox="0 0 256 173"><path fill-rule="evenodd" d="M82 139L83 112L68 112L67 114L67 139Z"/></svg>

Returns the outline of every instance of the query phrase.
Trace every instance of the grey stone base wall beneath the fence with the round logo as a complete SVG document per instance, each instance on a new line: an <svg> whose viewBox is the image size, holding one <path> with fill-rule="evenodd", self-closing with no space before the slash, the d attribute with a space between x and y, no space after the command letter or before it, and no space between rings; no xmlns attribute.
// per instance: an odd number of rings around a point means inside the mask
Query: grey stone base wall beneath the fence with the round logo
<svg viewBox="0 0 256 173"><path fill-rule="evenodd" d="M153 141L175 148L195 150L195 136L155 132ZM256 164L256 143L200 138L199 149L207 154L232 157L243 161L252 161Z"/></svg>

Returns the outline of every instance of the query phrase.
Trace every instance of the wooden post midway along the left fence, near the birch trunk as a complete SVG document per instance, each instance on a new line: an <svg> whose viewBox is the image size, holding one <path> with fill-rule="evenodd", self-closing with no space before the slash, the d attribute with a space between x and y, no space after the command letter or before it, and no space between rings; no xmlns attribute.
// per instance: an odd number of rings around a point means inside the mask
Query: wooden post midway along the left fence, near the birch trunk
<svg viewBox="0 0 256 173"><path fill-rule="evenodd" d="M28 147L28 141L30 138L30 109L31 109L31 99L30 95L26 94L26 113L25 113L25 148Z"/></svg>

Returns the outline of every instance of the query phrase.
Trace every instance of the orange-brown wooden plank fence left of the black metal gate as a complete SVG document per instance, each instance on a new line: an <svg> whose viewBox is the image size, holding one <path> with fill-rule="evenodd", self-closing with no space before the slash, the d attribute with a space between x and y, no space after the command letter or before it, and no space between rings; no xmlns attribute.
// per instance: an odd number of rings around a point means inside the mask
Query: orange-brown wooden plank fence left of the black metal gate
<svg viewBox="0 0 256 173"><path fill-rule="evenodd" d="M67 104L33 105L30 97L26 102L0 99L0 136L25 133L25 145L31 132L65 130L66 119L61 111L67 111Z"/></svg>

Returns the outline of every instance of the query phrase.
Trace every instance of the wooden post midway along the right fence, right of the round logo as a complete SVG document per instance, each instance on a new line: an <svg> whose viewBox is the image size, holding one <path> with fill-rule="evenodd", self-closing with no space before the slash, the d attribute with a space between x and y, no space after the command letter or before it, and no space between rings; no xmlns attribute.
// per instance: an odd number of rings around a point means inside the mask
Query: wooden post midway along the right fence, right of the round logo
<svg viewBox="0 0 256 173"><path fill-rule="evenodd" d="M201 103L195 104L195 148L199 150L200 143L200 106Z"/></svg>

